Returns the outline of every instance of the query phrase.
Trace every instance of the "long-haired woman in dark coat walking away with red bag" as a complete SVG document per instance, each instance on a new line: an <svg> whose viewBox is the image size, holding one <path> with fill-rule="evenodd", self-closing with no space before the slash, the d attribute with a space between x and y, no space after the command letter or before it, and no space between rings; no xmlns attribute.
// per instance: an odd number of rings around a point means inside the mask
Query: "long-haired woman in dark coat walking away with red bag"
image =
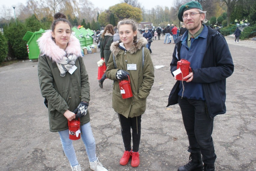
<svg viewBox="0 0 256 171"><path fill-rule="evenodd" d="M102 33L100 38L100 57L104 58L106 65L108 64L108 59L111 54L110 46L111 46L111 43L113 42L113 35L114 35L114 27L113 25L108 24L105 27L104 32ZM101 79L99 79L100 88L103 88L103 82L105 79L106 79L106 74L104 73Z"/></svg>

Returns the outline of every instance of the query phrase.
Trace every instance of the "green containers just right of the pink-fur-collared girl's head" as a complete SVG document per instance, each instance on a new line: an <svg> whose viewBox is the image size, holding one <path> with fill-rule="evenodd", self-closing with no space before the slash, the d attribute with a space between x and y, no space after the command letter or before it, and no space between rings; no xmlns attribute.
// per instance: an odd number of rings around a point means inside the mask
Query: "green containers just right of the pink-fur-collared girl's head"
<svg viewBox="0 0 256 171"><path fill-rule="evenodd" d="M81 48L93 44L93 38L84 27L80 27L79 29L77 27L73 27L72 32L74 36L80 41Z"/></svg>

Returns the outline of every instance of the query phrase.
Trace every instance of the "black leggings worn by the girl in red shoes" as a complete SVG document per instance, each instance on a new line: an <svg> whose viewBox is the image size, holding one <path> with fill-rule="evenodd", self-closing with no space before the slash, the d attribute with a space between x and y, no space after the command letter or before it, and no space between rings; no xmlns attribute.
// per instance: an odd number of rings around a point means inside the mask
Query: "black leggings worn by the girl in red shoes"
<svg viewBox="0 0 256 171"><path fill-rule="evenodd" d="M141 116L126 118L118 114L123 137L125 151L131 151L131 128L133 130L133 152L139 151L140 134L141 134Z"/></svg>

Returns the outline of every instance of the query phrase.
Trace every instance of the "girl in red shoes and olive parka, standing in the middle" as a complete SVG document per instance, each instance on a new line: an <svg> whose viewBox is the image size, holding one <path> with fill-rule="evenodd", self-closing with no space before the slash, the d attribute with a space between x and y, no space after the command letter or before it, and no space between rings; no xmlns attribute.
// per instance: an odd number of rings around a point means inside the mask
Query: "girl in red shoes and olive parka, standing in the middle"
<svg viewBox="0 0 256 171"><path fill-rule="evenodd" d="M117 28L120 42L111 44L111 58L108 61L106 75L107 78L115 80L112 106L118 115L125 148L119 163L124 166L132 158L131 166L138 167L141 120L146 110L147 97L154 83L154 66L149 50L144 48L148 41L143 37L138 38L137 23L132 19L123 19L118 22ZM114 58L112 58L113 55ZM128 64L133 66L130 67ZM118 80L128 80L128 75L133 97L123 99ZM132 137L133 148L131 147Z"/></svg>

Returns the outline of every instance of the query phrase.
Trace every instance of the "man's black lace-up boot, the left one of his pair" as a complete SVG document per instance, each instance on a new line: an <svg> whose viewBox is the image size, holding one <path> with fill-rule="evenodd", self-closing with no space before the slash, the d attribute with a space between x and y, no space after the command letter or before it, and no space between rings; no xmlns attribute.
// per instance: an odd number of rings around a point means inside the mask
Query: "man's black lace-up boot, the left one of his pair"
<svg viewBox="0 0 256 171"><path fill-rule="evenodd" d="M203 171L201 153L190 153L189 162L179 167L178 171Z"/></svg>

